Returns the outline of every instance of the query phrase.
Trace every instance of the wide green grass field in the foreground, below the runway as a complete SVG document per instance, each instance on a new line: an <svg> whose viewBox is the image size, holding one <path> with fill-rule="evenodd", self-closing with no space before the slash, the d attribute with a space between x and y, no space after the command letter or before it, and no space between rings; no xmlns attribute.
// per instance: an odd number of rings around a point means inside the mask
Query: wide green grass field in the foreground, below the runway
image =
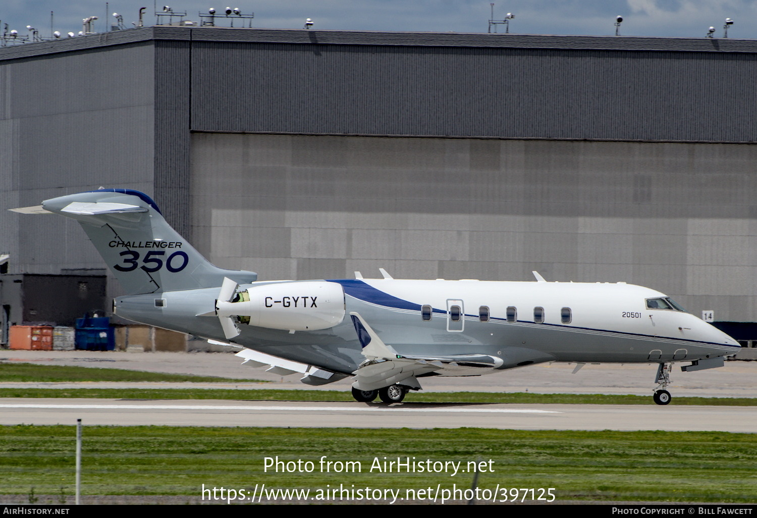
<svg viewBox="0 0 757 518"><path fill-rule="evenodd" d="M6 495L73 494L74 426L3 426ZM85 495L194 495L201 485L251 489L469 488L472 473L369 473L375 457L493 460L479 488L555 488L557 502L757 499L757 434L495 429L281 429L86 426ZM319 473L318 461L360 473ZM264 457L313 461L313 473L268 473ZM24 498L24 497L20 497Z"/></svg>

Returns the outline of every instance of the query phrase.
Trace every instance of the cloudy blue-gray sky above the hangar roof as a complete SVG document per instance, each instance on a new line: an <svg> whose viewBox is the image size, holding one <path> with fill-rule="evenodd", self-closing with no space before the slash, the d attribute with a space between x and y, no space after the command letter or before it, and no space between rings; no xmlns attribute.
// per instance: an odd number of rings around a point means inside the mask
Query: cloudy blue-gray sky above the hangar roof
<svg viewBox="0 0 757 518"><path fill-rule="evenodd" d="M163 2L157 3L162 10ZM723 36L726 17L734 19L731 38L757 39L757 0L506 0L494 2L494 18L507 12L516 14L511 33L521 34L615 34L615 16L624 17L621 36L703 37L710 26L715 36ZM27 25L41 36L50 36L50 11L55 11L54 27L62 33L82 30L82 18L98 16L95 30L110 27L112 13L123 14L126 27L138 19L146 7L145 25L155 23L154 2L114 0L2 0L0 32L9 29L26 34ZM169 3L173 11L185 11L188 20L198 20L198 12L213 7L222 12L226 4L213 1L179 0ZM254 13L253 27L301 29L305 18L315 23L313 30L388 30L485 33L491 14L490 2L479 0L241 0L243 14ZM218 23L219 25L222 23ZM503 32L503 27L499 26Z"/></svg>

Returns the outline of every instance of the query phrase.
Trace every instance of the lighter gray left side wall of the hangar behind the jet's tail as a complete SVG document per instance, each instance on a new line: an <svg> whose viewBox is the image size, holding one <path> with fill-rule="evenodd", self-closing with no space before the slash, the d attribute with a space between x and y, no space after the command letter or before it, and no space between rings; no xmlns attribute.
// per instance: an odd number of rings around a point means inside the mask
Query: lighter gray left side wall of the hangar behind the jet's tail
<svg viewBox="0 0 757 518"><path fill-rule="evenodd" d="M152 46L0 61L0 92L0 248L10 273L104 273L77 223L5 208L100 186L152 194Z"/></svg>

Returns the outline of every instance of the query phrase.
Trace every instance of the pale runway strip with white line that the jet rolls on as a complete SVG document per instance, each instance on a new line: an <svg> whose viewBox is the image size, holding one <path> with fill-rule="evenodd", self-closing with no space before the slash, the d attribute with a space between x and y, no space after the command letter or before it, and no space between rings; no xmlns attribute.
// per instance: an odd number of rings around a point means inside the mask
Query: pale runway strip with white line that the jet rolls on
<svg viewBox="0 0 757 518"><path fill-rule="evenodd" d="M755 432L757 407L4 398L0 424Z"/></svg>

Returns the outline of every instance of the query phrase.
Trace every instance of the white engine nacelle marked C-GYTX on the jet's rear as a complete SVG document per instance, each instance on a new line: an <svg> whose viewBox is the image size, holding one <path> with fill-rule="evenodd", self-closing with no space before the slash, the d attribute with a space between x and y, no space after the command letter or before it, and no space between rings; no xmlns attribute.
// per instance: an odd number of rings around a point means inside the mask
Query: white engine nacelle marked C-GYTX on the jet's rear
<svg viewBox="0 0 757 518"><path fill-rule="evenodd" d="M218 301L218 315L239 323L294 331L329 329L344 320L344 290L337 282L279 282L253 286L241 300Z"/></svg>

